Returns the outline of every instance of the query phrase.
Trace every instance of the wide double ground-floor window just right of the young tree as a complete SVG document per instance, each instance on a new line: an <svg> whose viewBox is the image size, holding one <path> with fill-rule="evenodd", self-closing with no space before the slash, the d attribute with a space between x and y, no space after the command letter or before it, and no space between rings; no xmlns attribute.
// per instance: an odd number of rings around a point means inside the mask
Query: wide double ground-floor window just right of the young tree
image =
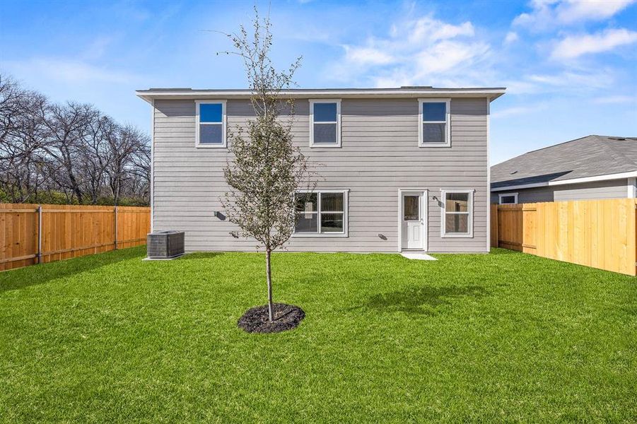
<svg viewBox="0 0 637 424"><path fill-rule="evenodd" d="M346 235L347 190L296 193L295 235Z"/></svg>

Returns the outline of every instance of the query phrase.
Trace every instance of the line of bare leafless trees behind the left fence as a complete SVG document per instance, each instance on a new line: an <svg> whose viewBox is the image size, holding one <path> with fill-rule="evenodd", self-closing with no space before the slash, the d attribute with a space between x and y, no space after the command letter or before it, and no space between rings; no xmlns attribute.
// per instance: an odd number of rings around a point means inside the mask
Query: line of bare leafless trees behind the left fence
<svg viewBox="0 0 637 424"><path fill-rule="evenodd" d="M150 137L0 74L0 201L148 204Z"/></svg>

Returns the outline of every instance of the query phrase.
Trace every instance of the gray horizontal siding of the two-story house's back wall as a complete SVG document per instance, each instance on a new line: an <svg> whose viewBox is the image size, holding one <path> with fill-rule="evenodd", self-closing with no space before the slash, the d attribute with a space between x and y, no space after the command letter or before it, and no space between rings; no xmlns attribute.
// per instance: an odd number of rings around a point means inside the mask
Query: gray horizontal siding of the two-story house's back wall
<svg viewBox="0 0 637 424"><path fill-rule="evenodd" d="M249 102L228 100L228 131L252 116ZM486 99L451 102L451 148L418 147L416 99L341 101L341 148L310 148L307 100L296 104L295 143L320 174L318 188L349 189L349 237L293 237L291 251L396 252L398 189L429 190L431 252L486 250ZM153 227L186 231L186 247L250 250L254 240L235 239L221 211L228 187L226 149L194 147L194 102L156 100L153 137ZM440 189L475 189L474 237L440 238ZM380 237L382 235L382 237ZM386 240L383 240L385 238Z"/></svg>

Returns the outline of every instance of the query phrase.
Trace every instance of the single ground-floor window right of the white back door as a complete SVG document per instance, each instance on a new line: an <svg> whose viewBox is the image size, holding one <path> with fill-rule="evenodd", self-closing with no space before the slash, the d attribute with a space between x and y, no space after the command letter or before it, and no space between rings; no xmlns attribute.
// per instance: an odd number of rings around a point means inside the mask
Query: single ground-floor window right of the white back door
<svg viewBox="0 0 637 424"><path fill-rule="evenodd" d="M441 237L473 237L473 190L443 190Z"/></svg>

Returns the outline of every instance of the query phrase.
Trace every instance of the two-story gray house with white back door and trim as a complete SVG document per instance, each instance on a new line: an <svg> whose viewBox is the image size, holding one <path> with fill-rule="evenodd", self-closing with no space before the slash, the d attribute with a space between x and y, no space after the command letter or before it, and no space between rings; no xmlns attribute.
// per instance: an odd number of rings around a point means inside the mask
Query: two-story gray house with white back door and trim
<svg viewBox="0 0 637 424"><path fill-rule="evenodd" d="M294 142L317 170L299 192L291 251L489 251L489 103L504 88L288 90ZM254 116L248 90L150 89L152 228L186 250L254 249L220 196L228 134Z"/></svg>

